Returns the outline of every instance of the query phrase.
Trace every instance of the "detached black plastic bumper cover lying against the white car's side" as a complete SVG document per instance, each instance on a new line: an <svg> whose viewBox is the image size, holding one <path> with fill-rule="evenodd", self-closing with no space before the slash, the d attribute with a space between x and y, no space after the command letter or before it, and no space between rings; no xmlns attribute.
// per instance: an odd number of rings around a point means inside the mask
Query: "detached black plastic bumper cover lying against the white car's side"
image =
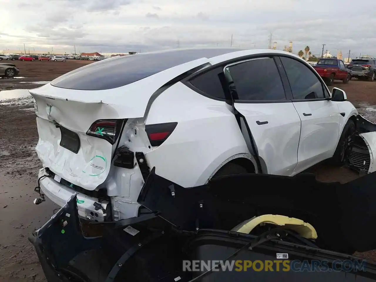
<svg viewBox="0 0 376 282"><path fill-rule="evenodd" d="M149 174L138 202L180 230L231 230L262 214L299 218L317 230L319 247L353 253L376 249L376 172L341 184L317 181L314 174L294 177L236 174L207 185L183 188Z"/></svg>

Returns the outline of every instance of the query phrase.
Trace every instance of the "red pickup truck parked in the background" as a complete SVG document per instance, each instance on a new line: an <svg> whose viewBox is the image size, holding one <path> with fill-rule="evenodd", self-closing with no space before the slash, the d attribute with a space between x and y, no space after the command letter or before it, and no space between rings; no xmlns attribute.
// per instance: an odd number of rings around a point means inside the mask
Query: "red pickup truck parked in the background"
<svg viewBox="0 0 376 282"><path fill-rule="evenodd" d="M335 79L342 80L343 83L348 83L351 79L351 71L342 60L336 58L319 59L314 69L327 85L332 85Z"/></svg>

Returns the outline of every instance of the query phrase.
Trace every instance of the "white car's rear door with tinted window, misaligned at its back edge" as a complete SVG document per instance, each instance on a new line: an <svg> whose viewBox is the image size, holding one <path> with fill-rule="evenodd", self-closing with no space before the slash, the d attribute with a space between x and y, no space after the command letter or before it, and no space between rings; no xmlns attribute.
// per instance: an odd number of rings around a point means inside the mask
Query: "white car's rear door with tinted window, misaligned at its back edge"
<svg viewBox="0 0 376 282"><path fill-rule="evenodd" d="M225 66L224 71L234 106L246 119L252 136L242 126L243 135L247 143L253 138L263 173L291 175L297 164L300 119L285 96L274 59L240 61Z"/></svg>

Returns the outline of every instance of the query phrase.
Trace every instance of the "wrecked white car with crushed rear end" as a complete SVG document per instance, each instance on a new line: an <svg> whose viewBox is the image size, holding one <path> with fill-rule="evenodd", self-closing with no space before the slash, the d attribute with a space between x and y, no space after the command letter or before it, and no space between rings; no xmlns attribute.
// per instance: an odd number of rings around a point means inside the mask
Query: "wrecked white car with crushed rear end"
<svg viewBox="0 0 376 282"><path fill-rule="evenodd" d="M79 215L91 221L143 213L137 199L152 167L183 187L245 172L294 176L329 158L373 169L366 143L376 138L361 133L374 124L311 65L278 50L122 56L30 93L43 164L36 203L63 206L79 192Z"/></svg>

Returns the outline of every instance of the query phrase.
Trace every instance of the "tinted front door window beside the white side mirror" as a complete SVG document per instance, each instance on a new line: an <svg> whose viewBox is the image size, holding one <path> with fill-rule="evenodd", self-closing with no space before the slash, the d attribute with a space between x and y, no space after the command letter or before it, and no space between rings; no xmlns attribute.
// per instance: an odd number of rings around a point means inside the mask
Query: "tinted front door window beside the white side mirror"
<svg viewBox="0 0 376 282"><path fill-rule="evenodd" d="M281 57L294 99L324 98L323 85L317 76L303 63Z"/></svg>

